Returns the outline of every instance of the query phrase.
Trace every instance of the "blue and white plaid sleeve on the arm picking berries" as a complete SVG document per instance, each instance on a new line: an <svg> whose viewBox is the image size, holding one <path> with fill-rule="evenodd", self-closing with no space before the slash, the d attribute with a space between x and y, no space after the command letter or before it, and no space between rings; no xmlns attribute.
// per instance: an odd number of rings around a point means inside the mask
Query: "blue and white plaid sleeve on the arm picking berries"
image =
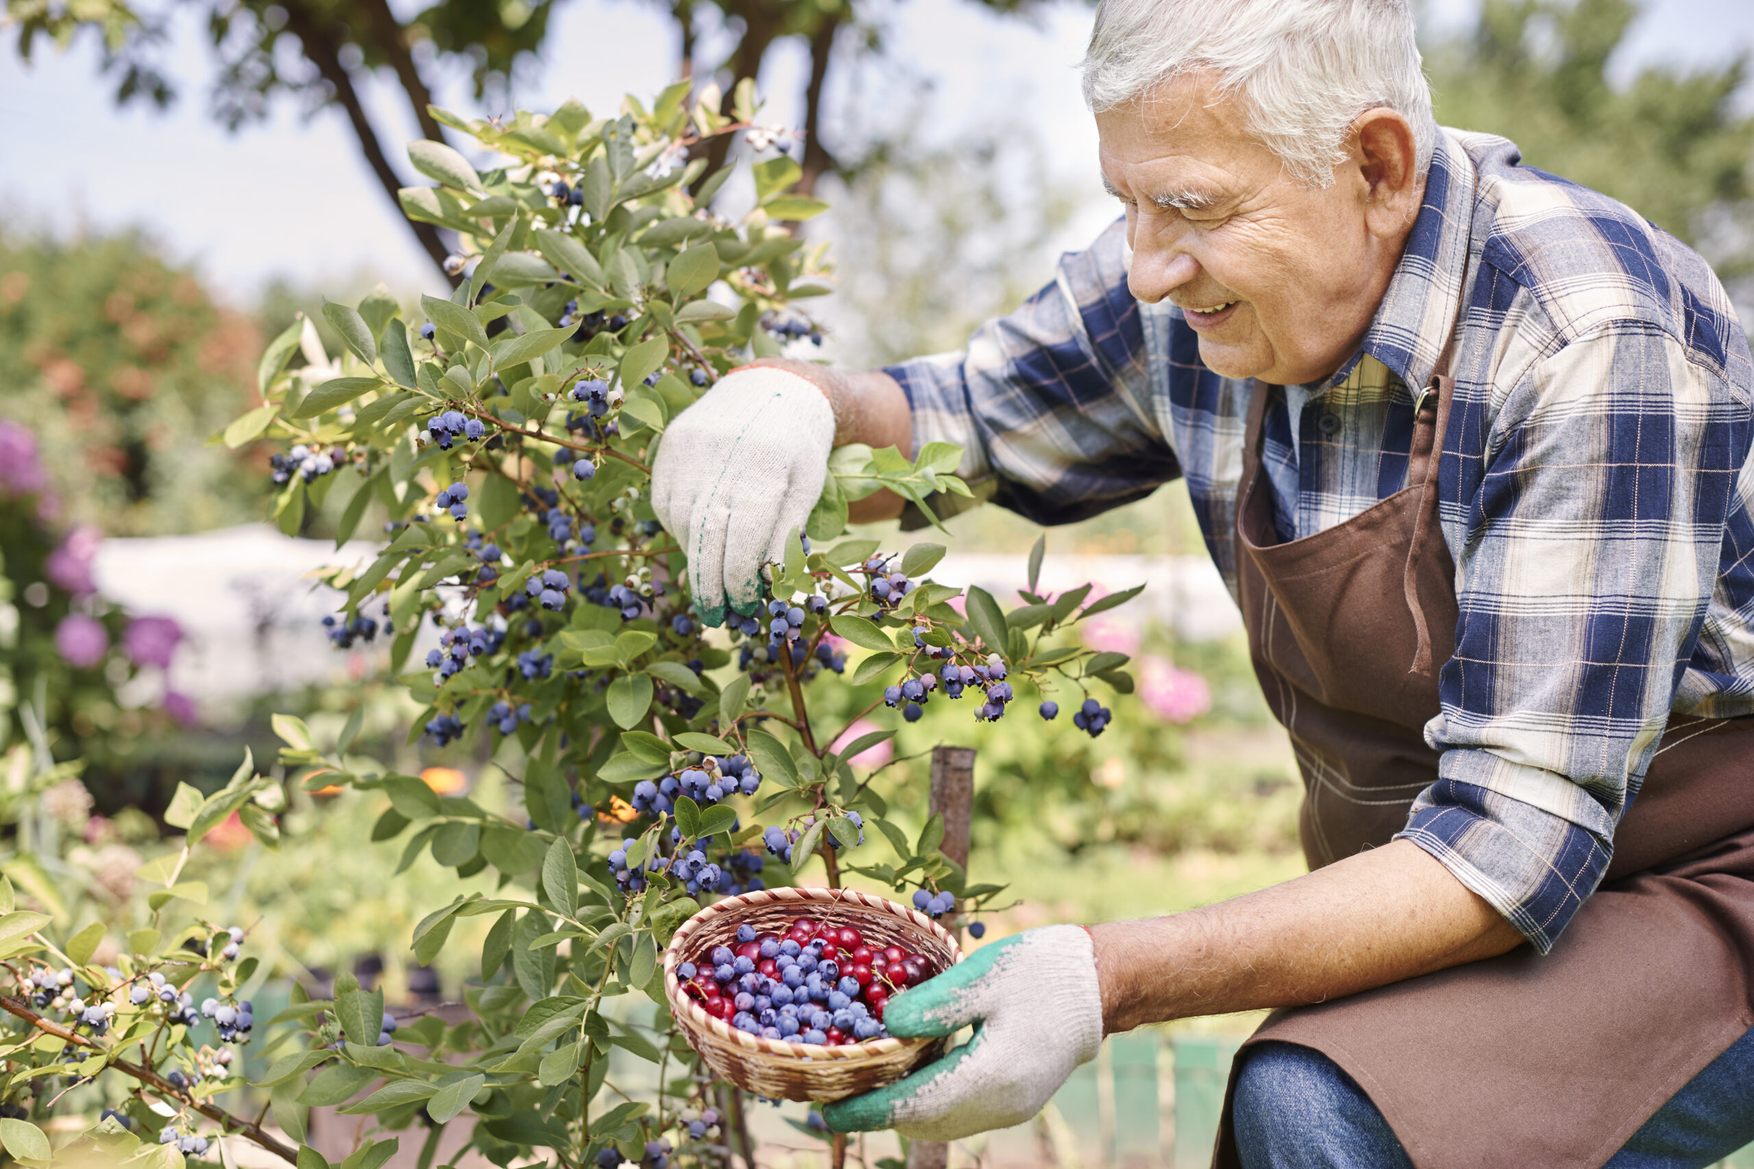
<svg viewBox="0 0 1754 1169"><path fill-rule="evenodd" d="M1061 256L1054 282L988 321L965 352L886 370L914 410L914 449L963 447L961 473L1038 524L1068 524L1151 494L1180 466L1149 403L1124 223Z"/></svg>

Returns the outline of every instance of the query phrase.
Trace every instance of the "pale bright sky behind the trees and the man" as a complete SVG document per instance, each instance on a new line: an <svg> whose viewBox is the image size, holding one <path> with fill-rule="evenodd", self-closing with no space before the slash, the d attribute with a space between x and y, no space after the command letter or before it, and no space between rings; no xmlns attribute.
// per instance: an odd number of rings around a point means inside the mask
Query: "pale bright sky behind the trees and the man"
<svg viewBox="0 0 1754 1169"><path fill-rule="evenodd" d="M239 303L274 277L339 287L370 273L400 289L433 287L431 263L360 159L344 116L330 109L305 117L282 102L267 123L226 131L209 116L210 65L195 5L175 7L170 63L184 91L168 112L116 109L88 39L65 54L39 47L28 67L12 39L4 40L0 221L61 233L140 226ZM1475 7L1477 0L1426 0L1424 25L1463 28ZM930 112L926 124L944 133L984 119L1026 121L1051 144L1056 170L1091 186L1091 214L1066 228L1065 244L1107 223L1110 209L1091 165L1094 128L1075 74L1087 5L1056 0L1030 19L1002 19L965 0L903 0L882 21L889 60L903 67L865 70L845 102L881 116L898 98L917 98ZM605 44L614 53L603 53ZM1631 74L1651 61L1707 65L1738 51L1754 53L1754 2L1647 0L1615 67ZM675 33L656 7L570 0L556 12L547 60L519 103L551 109L579 96L607 110L626 91L660 88L674 61ZM796 121L803 67L795 47L770 54L763 75L763 91L774 96L770 121ZM444 79L437 93L451 109L479 112L463 77ZM374 86L367 96L386 128L386 149L414 137L400 89ZM389 152L414 182L405 156Z"/></svg>

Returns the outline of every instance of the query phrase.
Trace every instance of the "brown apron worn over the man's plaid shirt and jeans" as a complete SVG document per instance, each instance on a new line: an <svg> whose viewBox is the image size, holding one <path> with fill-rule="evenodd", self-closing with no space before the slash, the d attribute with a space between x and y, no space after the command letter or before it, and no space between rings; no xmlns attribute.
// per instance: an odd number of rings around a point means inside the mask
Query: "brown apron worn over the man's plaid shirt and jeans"
<svg viewBox="0 0 1754 1169"><path fill-rule="evenodd" d="M1249 650L1303 773L1312 868L1389 843L1437 778L1424 724L1454 652L1437 521L1451 380L1415 407L1407 487L1277 543L1256 384L1237 503ZM1601 887L1552 953L1529 946L1275 1011L1249 1043L1316 1048L1382 1111L1417 1169L1594 1169L1754 1027L1754 719L1673 719ZM1238 1060L1240 1062L1240 1060ZM1231 1073L1235 1088L1235 1067ZM1230 1099L1214 1165L1238 1165Z"/></svg>

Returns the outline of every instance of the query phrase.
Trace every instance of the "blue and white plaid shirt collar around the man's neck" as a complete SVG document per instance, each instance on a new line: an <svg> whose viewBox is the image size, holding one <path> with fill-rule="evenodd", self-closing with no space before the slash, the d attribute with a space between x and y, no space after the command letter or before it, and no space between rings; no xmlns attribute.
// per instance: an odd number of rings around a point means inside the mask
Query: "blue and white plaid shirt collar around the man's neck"
<svg viewBox="0 0 1754 1169"><path fill-rule="evenodd" d="M1438 128L1424 202L1400 263L1394 265L1394 275L1389 277L1389 289L1365 342L1333 377L1324 379L1323 389L1351 377L1365 354L1386 365L1408 387L1422 387L1431 380L1456 322L1468 273L1473 182L1473 159Z"/></svg>

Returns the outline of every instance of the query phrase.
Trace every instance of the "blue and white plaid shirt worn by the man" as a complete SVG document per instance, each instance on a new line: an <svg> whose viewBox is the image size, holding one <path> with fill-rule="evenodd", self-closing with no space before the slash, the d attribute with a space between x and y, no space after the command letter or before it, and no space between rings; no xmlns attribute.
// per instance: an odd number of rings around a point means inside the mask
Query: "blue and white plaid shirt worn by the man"
<svg viewBox="0 0 1754 1169"><path fill-rule="evenodd" d="M1614 200L1444 131L1361 351L1272 389L1284 538L1405 485L1412 394L1461 308L1440 521L1456 654L1401 836L1545 952L1596 889L1670 712L1754 713L1750 363L1705 261ZM1180 475L1235 594L1251 382L1200 363L1180 310L1126 287L1124 224L968 351L889 373L916 445L966 449L998 503L1061 524ZM1291 428L1298 442L1291 442Z"/></svg>

